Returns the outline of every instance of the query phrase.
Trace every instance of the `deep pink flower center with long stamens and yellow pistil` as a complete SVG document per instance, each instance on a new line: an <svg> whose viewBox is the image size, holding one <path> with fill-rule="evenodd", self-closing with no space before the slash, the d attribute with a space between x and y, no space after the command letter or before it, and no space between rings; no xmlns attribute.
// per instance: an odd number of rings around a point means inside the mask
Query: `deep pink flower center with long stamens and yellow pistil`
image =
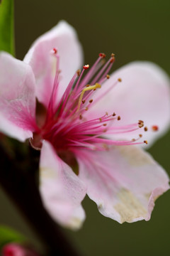
<svg viewBox="0 0 170 256"><path fill-rule="evenodd" d="M114 145L131 145L142 144L147 141L139 142L142 137L142 132L146 131L146 127L142 129L136 139L118 140L112 139L119 137L120 134L132 133L144 127L144 122L139 120L134 124L126 126L114 125L120 121L120 116L115 112L98 116L97 118L86 117L86 111L90 111L91 105L101 100L110 90L113 89L121 78L118 78L113 85L108 88L103 94L98 95L93 100L93 95L96 90L104 86L104 82L110 78L108 72L115 61L115 55L103 64L106 57L104 53L100 53L94 65L89 69L89 65L84 65L82 70L77 70L64 91L60 101L56 98L58 87L60 86L60 58L57 55L57 50L54 48L52 54L57 59L57 68L55 81L52 89L47 111L45 112L45 122L40 128L39 137L35 138L46 139L49 141L60 154L64 151L74 151L74 148L86 148L89 150L108 150ZM86 74L84 73L86 71ZM90 113L90 112L89 112ZM153 126L152 130L156 131L157 126ZM110 137L110 139L108 139Z"/></svg>

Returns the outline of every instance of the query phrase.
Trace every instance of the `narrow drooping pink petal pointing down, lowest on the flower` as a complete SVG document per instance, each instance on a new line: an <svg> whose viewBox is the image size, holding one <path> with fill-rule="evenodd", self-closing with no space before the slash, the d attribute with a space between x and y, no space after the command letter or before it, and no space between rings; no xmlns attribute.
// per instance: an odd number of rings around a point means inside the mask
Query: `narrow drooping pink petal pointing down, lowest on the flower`
<svg viewBox="0 0 170 256"><path fill-rule="evenodd" d="M72 229L81 227L85 219L81 201L86 187L48 142L43 142L40 156L40 194L58 223Z"/></svg>

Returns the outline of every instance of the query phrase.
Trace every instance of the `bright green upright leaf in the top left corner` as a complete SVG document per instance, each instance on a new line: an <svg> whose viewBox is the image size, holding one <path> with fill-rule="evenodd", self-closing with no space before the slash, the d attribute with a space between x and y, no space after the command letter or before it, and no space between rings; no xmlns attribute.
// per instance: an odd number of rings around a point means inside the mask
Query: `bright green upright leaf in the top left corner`
<svg viewBox="0 0 170 256"><path fill-rule="evenodd" d="M14 55L13 0L0 2L0 50Z"/></svg>

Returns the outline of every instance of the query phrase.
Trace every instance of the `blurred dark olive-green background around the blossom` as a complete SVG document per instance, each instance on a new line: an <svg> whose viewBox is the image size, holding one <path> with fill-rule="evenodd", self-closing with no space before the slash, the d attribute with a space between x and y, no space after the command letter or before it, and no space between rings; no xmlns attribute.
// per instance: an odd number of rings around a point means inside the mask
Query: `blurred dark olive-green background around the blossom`
<svg viewBox="0 0 170 256"><path fill-rule="evenodd" d="M35 38L61 19L76 28L84 48L84 63L93 63L99 52L114 52L114 69L132 60L150 60L170 75L169 0L16 0L17 58L23 59ZM149 152L170 174L169 142L170 132ZM0 201L1 223L25 233L43 250L3 191ZM120 225L100 215L89 198L83 204L87 216L84 227L78 232L64 230L81 255L169 255L170 191L158 199L149 222Z"/></svg>

